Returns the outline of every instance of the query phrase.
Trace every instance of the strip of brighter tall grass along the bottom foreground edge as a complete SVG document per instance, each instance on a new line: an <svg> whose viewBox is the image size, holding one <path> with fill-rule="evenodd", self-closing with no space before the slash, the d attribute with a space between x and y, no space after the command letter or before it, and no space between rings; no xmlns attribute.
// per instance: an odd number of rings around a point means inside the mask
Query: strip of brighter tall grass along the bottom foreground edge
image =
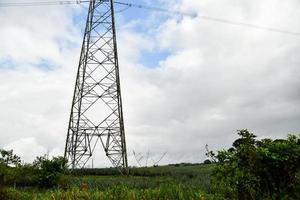
<svg viewBox="0 0 300 200"><path fill-rule="evenodd" d="M153 189L131 189L117 186L106 190L79 189L54 190L45 192L20 191L9 189L9 200L204 200L213 199L201 190L191 189L182 185L163 185ZM216 198L214 198L216 199Z"/></svg>

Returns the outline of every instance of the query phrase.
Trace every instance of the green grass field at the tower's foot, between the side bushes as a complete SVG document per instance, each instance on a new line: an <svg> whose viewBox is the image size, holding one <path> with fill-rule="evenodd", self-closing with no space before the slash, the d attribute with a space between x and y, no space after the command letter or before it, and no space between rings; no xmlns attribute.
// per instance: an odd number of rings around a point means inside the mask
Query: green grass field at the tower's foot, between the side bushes
<svg viewBox="0 0 300 200"><path fill-rule="evenodd" d="M210 194L212 167L178 165L133 168L129 176L117 175L113 169L88 169L77 172L77 175L63 176L56 189L9 188L5 195L13 200L217 199Z"/></svg>

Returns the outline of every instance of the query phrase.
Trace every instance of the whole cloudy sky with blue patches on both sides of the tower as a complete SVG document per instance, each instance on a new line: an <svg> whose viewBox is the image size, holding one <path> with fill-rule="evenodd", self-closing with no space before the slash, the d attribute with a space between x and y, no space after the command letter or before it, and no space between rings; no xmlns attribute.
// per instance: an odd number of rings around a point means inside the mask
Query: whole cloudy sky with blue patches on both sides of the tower
<svg viewBox="0 0 300 200"><path fill-rule="evenodd" d="M243 128L300 133L300 35L201 17L300 32L299 0L132 2L198 15L116 16L129 165L133 150L150 164L164 152L161 164L201 162L205 144L227 148ZM27 162L63 154L86 14L86 5L0 7L0 147ZM94 160L110 166L102 151Z"/></svg>

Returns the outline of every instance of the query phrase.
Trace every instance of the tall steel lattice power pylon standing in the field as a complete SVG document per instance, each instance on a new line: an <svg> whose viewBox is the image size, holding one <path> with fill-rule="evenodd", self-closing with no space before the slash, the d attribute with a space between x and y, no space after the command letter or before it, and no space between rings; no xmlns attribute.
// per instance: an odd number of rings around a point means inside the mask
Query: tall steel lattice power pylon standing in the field
<svg viewBox="0 0 300 200"><path fill-rule="evenodd" d="M101 142L120 171L127 153L113 0L91 0L73 96L65 159L82 168Z"/></svg>

